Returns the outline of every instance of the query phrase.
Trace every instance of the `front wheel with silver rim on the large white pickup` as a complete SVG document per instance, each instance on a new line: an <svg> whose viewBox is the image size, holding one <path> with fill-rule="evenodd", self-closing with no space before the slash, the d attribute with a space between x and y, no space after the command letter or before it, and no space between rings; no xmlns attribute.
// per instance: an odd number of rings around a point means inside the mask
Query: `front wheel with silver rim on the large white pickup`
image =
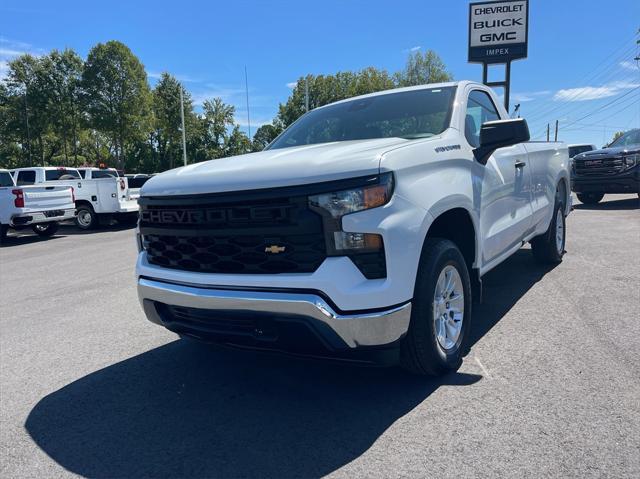
<svg viewBox="0 0 640 479"><path fill-rule="evenodd" d="M454 280L454 287L446 289L451 291L449 298L454 298L450 301L441 296L448 278ZM468 349L471 304L471 281L462 253L449 240L427 238L418 266L409 331L400 345L402 367L414 374L434 376L457 370Z"/></svg>

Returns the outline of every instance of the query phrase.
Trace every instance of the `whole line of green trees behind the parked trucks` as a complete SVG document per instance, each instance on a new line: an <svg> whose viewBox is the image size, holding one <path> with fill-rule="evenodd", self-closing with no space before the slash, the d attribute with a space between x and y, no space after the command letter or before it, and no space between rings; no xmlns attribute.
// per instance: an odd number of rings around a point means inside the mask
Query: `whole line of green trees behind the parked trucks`
<svg viewBox="0 0 640 479"><path fill-rule="evenodd" d="M253 139L240 130L232 105L206 100L194 112L191 95L163 73L150 89L144 66L117 41L95 45L83 61L73 50L21 55L0 81L0 166L80 166L106 163L128 172L160 172L182 165L180 91L189 163L264 149L309 108L399 86L450 80L432 51L409 56L389 74L357 72L301 77L272 124Z"/></svg>

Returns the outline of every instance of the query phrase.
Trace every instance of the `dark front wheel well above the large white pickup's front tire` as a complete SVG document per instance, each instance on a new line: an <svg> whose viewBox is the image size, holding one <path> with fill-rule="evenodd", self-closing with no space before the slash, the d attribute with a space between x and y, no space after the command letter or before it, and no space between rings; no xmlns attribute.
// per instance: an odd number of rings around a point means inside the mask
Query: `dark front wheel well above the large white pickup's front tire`
<svg viewBox="0 0 640 479"><path fill-rule="evenodd" d="M454 208L442 213L429 227L427 238L445 238L453 241L471 271L476 260L476 232L467 210Z"/></svg>

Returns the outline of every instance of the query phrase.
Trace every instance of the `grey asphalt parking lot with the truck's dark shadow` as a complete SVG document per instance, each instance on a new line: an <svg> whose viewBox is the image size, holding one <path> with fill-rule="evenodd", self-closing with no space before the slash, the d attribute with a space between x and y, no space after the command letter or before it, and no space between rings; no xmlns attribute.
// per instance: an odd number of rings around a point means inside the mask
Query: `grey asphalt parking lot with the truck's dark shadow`
<svg viewBox="0 0 640 479"><path fill-rule="evenodd" d="M147 322L132 229L0 249L2 477L640 477L640 201L485 277L442 379L210 350Z"/></svg>

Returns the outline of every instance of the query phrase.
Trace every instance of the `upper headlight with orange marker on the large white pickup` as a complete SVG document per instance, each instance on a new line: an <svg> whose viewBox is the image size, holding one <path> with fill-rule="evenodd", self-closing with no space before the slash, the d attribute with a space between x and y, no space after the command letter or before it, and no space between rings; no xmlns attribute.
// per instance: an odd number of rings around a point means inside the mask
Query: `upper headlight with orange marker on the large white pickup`
<svg viewBox="0 0 640 479"><path fill-rule="evenodd" d="M393 175L385 173L378 178L379 182L375 185L310 196L309 203L336 219L349 213L385 205L393 193Z"/></svg>

